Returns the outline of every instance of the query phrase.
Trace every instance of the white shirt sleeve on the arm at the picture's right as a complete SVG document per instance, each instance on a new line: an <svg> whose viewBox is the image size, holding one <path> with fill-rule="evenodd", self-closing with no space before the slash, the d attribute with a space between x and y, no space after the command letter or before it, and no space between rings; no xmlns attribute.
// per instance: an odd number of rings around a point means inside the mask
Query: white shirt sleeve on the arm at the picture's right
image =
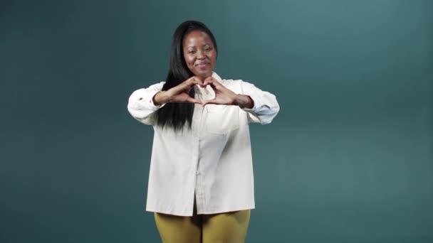
<svg viewBox="0 0 433 243"><path fill-rule="evenodd" d="M249 82L241 82L244 95L249 95L254 101L254 107L251 109L244 108L248 113L249 122L257 122L260 124L269 124L276 117L280 110L280 106L276 101L275 95L270 92L260 90L255 85Z"/></svg>

